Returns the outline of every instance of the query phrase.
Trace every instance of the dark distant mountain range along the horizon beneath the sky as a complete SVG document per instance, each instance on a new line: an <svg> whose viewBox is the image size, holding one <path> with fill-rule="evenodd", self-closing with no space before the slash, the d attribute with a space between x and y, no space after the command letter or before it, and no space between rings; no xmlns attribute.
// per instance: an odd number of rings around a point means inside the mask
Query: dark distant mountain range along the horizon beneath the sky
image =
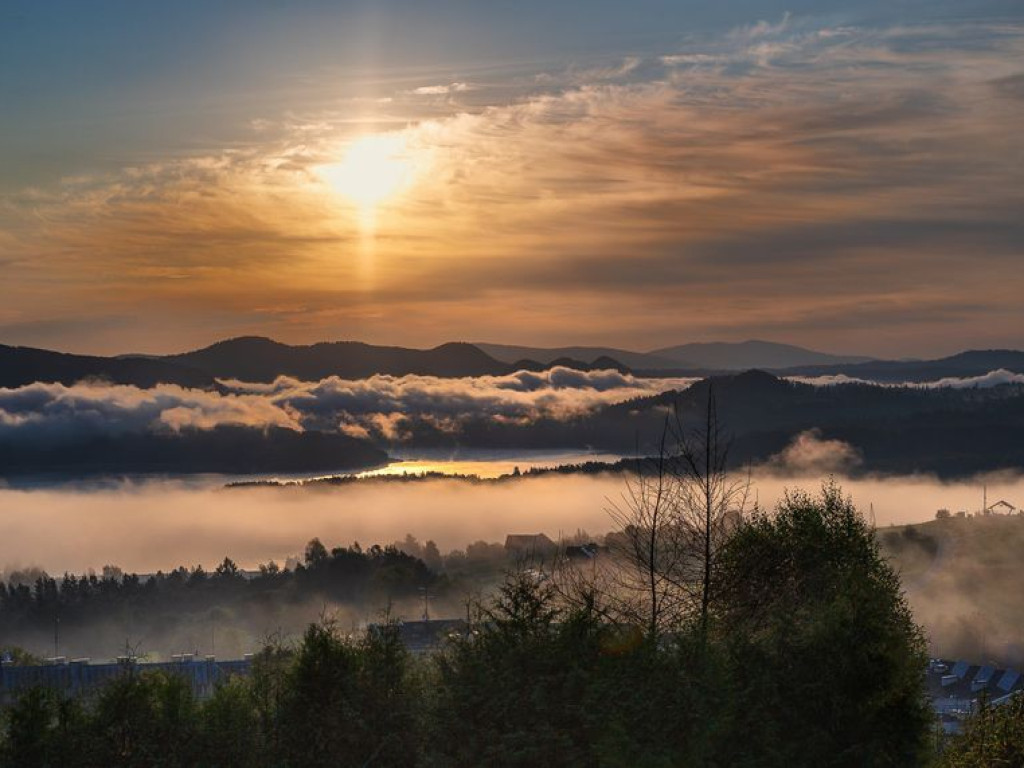
<svg viewBox="0 0 1024 768"><path fill-rule="evenodd" d="M542 348L465 342L432 349L354 341L291 345L262 337L240 337L162 356L101 357L0 345L0 387L100 379L139 387L169 383L209 389L218 386L217 379L270 382L278 376L291 376L315 381L328 376L359 379L375 374L455 378L502 376L553 366L628 370L638 376L707 376L760 369L785 376L845 375L868 381L916 382L981 376L997 369L1024 373L1024 352L969 350L934 360L876 360L765 341L684 344L632 352L611 347Z"/></svg>

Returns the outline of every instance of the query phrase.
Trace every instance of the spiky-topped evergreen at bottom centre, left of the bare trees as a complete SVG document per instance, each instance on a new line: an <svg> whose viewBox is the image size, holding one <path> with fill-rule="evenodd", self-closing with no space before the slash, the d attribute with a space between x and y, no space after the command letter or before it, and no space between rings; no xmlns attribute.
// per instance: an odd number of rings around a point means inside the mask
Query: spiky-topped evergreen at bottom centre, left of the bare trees
<svg viewBox="0 0 1024 768"><path fill-rule="evenodd" d="M563 611L528 571L511 574L481 612L476 632L437 658L437 764L594 765L583 705L599 653L595 617Z"/></svg>

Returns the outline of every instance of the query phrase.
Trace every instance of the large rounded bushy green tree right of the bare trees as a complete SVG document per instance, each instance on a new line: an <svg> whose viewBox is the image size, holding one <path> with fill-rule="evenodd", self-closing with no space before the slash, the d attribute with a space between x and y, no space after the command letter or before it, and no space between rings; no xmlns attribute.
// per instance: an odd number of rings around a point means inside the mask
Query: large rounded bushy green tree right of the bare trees
<svg viewBox="0 0 1024 768"><path fill-rule="evenodd" d="M730 765L905 766L931 721L924 637L874 531L834 482L724 547L715 631L731 665Z"/></svg>

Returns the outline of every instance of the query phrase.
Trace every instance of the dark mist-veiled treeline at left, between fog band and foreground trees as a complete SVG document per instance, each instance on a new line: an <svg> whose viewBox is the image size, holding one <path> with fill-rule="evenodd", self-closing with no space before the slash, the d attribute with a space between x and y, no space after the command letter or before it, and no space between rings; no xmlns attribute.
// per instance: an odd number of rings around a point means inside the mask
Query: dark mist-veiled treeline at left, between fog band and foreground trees
<svg viewBox="0 0 1024 768"><path fill-rule="evenodd" d="M250 627L258 640L282 624L291 624L290 607L307 606L318 612L325 604L344 604L366 613L389 600L417 599L421 588L434 595L455 589L458 558L453 559L450 577L439 573L435 546L422 547L415 540L404 546L418 547L434 568L396 546L362 549L354 544L328 550L314 539L303 562L291 567L269 562L256 573L243 573L229 558L212 571L182 566L145 578L110 566L98 575L66 573L59 579L31 570L13 572L7 584L0 583L0 637L3 644L28 645L38 652L52 647L58 623L61 647L77 655L109 658L123 652L125 642L133 647L141 643L134 649L150 651L161 636L179 642L170 650L191 651L195 646L180 643L193 638L211 652L209 630L204 627L215 622L224 641L232 626ZM169 642L173 641L163 645ZM221 648L234 655L251 649L245 647L249 643L236 645L240 647L222 642Z"/></svg>

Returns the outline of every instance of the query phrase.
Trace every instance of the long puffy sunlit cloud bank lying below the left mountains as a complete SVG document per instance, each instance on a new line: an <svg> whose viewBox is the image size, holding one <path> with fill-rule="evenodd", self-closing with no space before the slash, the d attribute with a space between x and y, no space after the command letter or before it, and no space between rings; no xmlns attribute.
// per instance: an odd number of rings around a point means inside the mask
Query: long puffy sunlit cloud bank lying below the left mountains
<svg viewBox="0 0 1024 768"><path fill-rule="evenodd" d="M160 385L152 389L83 382L0 389L0 439L61 441L90 434L245 426L336 431L394 439L407 419L444 431L468 419L517 424L565 420L600 406L689 386L692 379L640 379L616 371L553 368L540 373L441 379L431 376L330 377L270 384L222 382L225 392Z"/></svg>

